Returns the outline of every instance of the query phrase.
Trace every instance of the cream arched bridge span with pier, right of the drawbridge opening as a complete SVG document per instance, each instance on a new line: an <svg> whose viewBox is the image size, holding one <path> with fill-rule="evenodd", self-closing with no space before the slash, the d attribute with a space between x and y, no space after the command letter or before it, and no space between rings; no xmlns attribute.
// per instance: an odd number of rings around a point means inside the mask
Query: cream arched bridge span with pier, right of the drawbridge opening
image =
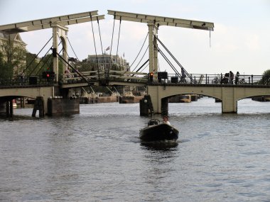
<svg viewBox="0 0 270 202"><path fill-rule="evenodd" d="M270 88L259 86L147 86L148 95L151 96L155 113L161 113L164 99L178 94L201 94L222 101L222 113L237 113L237 101L261 95L270 95ZM163 99L163 101L162 101ZM162 107L162 108L161 108Z"/></svg>

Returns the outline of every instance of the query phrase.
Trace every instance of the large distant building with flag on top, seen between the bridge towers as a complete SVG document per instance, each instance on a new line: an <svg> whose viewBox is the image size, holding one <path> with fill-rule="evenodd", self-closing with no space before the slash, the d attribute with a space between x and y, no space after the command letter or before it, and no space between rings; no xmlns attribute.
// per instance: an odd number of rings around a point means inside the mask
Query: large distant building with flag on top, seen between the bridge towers
<svg viewBox="0 0 270 202"><path fill-rule="evenodd" d="M129 62L118 55L88 55L87 62L95 63L99 65L100 70L108 69L110 65L117 65L119 70L129 71Z"/></svg>

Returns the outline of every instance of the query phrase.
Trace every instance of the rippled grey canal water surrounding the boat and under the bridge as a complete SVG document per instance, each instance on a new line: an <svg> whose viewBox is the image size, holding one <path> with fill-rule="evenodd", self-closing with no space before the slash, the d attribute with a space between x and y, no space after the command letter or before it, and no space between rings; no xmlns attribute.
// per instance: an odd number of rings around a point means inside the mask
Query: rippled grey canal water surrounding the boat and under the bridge
<svg viewBox="0 0 270 202"><path fill-rule="evenodd" d="M179 140L148 145L139 103L31 112L0 120L0 201L270 201L270 103L170 103Z"/></svg>

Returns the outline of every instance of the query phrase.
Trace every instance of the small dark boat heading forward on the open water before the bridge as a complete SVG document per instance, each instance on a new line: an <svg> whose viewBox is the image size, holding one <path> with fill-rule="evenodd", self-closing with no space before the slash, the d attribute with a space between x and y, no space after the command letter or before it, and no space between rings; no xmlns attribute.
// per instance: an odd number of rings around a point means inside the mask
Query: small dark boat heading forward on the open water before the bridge
<svg viewBox="0 0 270 202"><path fill-rule="evenodd" d="M177 140L179 131L172 125L160 123L158 119L151 119L148 125L140 130L140 139L144 141Z"/></svg>

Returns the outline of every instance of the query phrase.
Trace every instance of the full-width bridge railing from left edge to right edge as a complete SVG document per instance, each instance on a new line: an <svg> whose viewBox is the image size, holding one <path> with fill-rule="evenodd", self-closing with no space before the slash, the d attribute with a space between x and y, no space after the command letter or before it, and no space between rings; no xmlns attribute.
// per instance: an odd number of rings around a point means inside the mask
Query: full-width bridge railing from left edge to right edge
<svg viewBox="0 0 270 202"><path fill-rule="evenodd" d="M111 70L109 77L107 77L104 71L82 72L81 74L90 82L109 79L109 81L114 82L150 83L147 73ZM190 75L193 81L189 77L177 77L175 74L168 74L167 79L158 79L158 82L165 84L242 84L270 86L270 77L263 75L240 74L238 77L234 75L233 78L230 78L227 74ZM63 82L63 84L85 82L85 79L82 79L76 73L70 73L69 75L61 74L59 77L60 82ZM43 78L42 76L0 77L0 86L52 85L54 83L54 78Z"/></svg>

